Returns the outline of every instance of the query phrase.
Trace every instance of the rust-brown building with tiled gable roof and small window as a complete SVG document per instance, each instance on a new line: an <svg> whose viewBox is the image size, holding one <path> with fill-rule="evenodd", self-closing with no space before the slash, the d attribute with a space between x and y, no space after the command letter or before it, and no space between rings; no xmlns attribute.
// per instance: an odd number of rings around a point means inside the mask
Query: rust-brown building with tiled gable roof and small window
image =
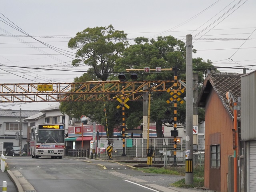
<svg viewBox="0 0 256 192"><path fill-rule="evenodd" d="M235 98L240 96L240 75L208 74L198 98L198 107L205 108L204 186L210 190L227 192L233 188L228 184L233 176L229 175L228 168L229 157L234 156L234 121L226 92L231 90Z"/></svg>

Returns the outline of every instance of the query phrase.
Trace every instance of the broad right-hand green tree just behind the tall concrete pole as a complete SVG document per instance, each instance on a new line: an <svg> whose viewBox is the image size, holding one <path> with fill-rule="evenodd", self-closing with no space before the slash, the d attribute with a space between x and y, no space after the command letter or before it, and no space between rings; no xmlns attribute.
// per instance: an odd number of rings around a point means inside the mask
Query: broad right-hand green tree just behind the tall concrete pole
<svg viewBox="0 0 256 192"><path fill-rule="evenodd" d="M172 68L177 66L180 69L178 71L178 79L186 79L184 72L186 71L186 46L185 43L177 40L172 36L162 37L159 36L157 40L149 40L148 38L139 37L136 38L135 44L128 47L123 57L116 60L115 71L124 72L125 69L136 68ZM196 50L193 50L196 53ZM204 71L211 62L208 60L204 62L202 58L193 59L193 69L199 70L199 82L202 83L204 77ZM174 80L174 72L161 72L161 73L141 73L138 76L138 80ZM152 83L154 86L154 83ZM182 97L182 96L180 96ZM184 96L185 97L185 94ZM170 98L170 94L166 93L154 93L151 95L150 106L150 119L156 122L157 137L163 137L162 133L162 121L164 119L164 112L166 108L171 107L166 103L166 100ZM140 109L142 113L142 108ZM201 111L201 110L200 110ZM203 114L204 115L204 114ZM177 121L185 123L186 119L186 107L184 104L178 103ZM202 116L201 116L202 117ZM200 119L200 122L202 119ZM132 127L132 122L127 120L127 125Z"/></svg>

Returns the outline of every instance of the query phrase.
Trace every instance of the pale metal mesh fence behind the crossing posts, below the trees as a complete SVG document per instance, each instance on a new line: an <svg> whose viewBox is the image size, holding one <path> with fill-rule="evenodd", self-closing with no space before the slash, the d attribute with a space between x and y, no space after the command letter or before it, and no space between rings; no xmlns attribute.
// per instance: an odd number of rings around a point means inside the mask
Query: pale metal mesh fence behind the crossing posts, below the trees
<svg viewBox="0 0 256 192"><path fill-rule="evenodd" d="M112 158L121 157L123 155L123 145L122 140L120 139L109 139L111 142ZM203 140L204 141L204 140ZM202 140L200 141L202 145ZM99 148L100 148L100 157L108 158L108 153L106 152L106 147L108 140L100 139ZM204 144L204 143L203 143ZM177 148L176 148L176 163L185 164L186 160L186 140L185 138L177 139ZM170 151L170 155L166 158L167 164L174 163L174 138L150 138L149 139L149 149L154 150L153 162L155 164L164 163L164 155L162 153L163 148ZM199 148L199 147L198 147ZM202 147L200 147L202 149ZM140 160L147 160L147 139L144 138L134 138L134 139L125 139L125 156L133 157ZM194 152L194 165L195 164L204 164L204 152Z"/></svg>

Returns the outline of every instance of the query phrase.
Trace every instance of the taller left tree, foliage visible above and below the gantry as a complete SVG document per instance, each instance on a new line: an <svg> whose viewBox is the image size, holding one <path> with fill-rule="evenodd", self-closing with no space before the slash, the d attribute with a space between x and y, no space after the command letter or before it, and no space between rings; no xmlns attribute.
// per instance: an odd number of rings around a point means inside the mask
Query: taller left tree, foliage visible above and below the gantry
<svg viewBox="0 0 256 192"><path fill-rule="evenodd" d="M86 28L78 32L68 42L68 47L76 50L76 59L73 66L89 66L87 73L75 78L74 82L107 80L111 75L116 60L128 46L127 34L124 31L115 30L112 25L108 27ZM118 105L118 104L116 104ZM114 104L105 103L108 121L109 136L113 136ZM90 117L93 121L105 125L106 118L103 101L98 102L61 102L60 110L72 117L80 118L81 115Z"/></svg>

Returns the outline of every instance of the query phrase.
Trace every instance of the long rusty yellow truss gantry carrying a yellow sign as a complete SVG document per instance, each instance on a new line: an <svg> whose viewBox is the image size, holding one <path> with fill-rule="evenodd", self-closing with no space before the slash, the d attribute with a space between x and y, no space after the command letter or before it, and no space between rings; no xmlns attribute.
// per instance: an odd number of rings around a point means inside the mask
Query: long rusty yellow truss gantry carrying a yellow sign
<svg viewBox="0 0 256 192"><path fill-rule="evenodd" d="M178 83L178 90L181 90ZM130 100L142 100L143 92L166 92L174 89L174 80L159 81L90 81L72 83L0 84L0 102L64 102L112 100L122 94Z"/></svg>

